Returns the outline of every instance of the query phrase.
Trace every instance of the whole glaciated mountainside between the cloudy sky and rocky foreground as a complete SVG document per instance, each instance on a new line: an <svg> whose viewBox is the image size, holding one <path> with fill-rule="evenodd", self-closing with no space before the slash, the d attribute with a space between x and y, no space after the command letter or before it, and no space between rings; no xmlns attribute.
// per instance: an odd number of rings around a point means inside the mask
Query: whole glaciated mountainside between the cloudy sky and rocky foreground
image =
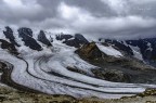
<svg viewBox="0 0 156 103"><path fill-rule="evenodd" d="M26 27L6 27L0 34L1 81L14 88L102 99L156 88L156 68L147 64L155 60L154 41L89 42L80 34L52 35ZM147 41L152 46L144 48Z"/></svg>

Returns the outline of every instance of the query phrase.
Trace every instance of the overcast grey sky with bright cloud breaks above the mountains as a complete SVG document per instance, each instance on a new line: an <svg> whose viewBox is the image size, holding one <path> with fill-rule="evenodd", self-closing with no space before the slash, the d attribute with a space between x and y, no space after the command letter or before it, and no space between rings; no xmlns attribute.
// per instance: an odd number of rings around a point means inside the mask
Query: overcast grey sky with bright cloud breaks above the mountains
<svg viewBox="0 0 156 103"><path fill-rule="evenodd" d="M156 0L0 0L0 25L105 38L153 37Z"/></svg>

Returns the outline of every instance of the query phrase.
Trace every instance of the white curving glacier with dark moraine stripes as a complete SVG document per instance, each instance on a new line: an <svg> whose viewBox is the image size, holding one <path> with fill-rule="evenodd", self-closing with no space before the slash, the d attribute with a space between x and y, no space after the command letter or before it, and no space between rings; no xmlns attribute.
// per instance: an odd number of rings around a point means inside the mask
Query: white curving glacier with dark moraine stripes
<svg viewBox="0 0 156 103"><path fill-rule="evenodd" d="M91 69L98 67L75 54L75 48L58 41L53 42L52 50L43 48L43 51L37 52L21 47L18 51L23 59L0 50L0 60L14 66L11 74L14 82L41 92L115 99L156 88L154 85L120 83L94 78ZM67 67L80 69L87 75L68 70Z"/></svg>

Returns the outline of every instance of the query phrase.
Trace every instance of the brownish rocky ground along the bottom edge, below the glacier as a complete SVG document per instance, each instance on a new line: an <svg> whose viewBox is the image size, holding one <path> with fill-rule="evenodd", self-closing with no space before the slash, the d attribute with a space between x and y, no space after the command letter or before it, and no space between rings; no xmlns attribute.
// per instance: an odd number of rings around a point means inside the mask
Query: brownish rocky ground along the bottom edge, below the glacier
<svg viewBox="0 0 156 103"><path fill-rule="evenodd" d="M130 98L102 100L98 98L75 99L68 95L32 93L0 86L0 103L156 103L156 90L146 90Z"/></svg>

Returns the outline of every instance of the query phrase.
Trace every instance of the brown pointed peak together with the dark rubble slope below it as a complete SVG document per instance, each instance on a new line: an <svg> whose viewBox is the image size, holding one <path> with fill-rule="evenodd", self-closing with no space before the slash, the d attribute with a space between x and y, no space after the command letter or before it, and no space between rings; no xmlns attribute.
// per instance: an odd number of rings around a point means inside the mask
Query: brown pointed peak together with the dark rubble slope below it
<svg viewBox="0 0 156 103"><path fill-rule="evenodd" d="M92 70L98 78L116 82L156 83L156 70L153 66L136 59L106 55L95 42L83 44L76 53L99 67Z"/></svg>

